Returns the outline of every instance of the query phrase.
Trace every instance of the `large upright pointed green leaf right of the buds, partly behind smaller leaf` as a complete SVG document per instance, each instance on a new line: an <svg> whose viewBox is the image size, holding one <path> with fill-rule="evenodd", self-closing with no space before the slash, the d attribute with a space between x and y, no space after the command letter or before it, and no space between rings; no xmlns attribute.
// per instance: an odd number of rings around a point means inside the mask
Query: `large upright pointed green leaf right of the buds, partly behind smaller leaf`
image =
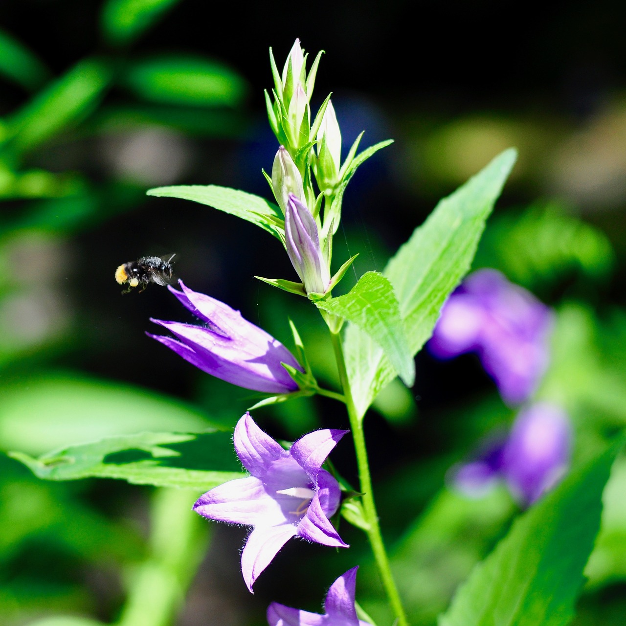
<svg viewBox="0 0 626 626"><path fill-rule="evenodd" d="M468 271L485 220L515 159L515 150L505 150L441 200L389 260L383 273L398 298L411 355L431 336L444 301ZM345 352L352 394L362 417L396 372L382 348L355 324L347 328Z"/></svg>

